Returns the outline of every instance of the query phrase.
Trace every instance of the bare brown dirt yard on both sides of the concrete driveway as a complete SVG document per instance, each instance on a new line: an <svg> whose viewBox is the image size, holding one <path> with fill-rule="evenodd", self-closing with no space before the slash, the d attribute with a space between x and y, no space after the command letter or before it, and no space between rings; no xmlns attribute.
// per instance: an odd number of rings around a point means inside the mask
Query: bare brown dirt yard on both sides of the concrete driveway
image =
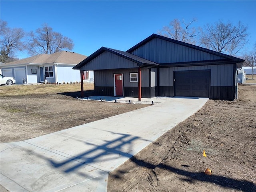
<svg viewBox="0 0 256 192"><path fill-rule="evenodd" d="M108 192L256 192L256 85L238 88L238 100L209 100L112 172ZM146 106L76 100L71 94L54 93L1 95L0 102L1 142L25 140ZM203 150L207 157L202 156ZM206 168L212 175L204 174Z"/></svg>

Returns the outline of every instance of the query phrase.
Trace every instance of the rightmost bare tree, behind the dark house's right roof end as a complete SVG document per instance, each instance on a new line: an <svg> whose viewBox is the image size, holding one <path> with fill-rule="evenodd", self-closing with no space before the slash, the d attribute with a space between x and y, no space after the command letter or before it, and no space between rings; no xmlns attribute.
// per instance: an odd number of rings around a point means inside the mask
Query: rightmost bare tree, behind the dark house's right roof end
<svg viewBox="0 0 256 192"><path fill-rule="evenodd" d="M248 42L247 26L238 22L237 26L228 21L207 24L201 34L201 43L205 48L234 55Z"/></svg>

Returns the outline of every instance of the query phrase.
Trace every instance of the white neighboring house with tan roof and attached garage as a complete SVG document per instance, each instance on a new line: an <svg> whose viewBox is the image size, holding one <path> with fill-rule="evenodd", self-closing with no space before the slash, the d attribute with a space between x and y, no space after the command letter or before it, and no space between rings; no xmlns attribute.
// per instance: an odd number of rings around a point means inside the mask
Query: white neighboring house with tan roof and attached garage
<svg viewBox="0 0 256 192"><path fill-rule="evenodd" d="M1 63L0 69L4 76L14 77L16 84L80 82L80 71L72 68L87 58L85 55L62 51L54 54L40 54L29 58ZM84 71L84 82L94 79L94 72Z"/></svg>

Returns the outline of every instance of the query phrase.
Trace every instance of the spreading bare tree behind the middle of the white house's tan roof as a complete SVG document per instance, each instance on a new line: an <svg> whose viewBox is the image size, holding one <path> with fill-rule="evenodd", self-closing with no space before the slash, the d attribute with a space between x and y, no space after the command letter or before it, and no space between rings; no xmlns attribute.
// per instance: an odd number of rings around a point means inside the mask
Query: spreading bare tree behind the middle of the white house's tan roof
<svg viewBox="0 0 256 192"><path fill-rule="evenodd" d="M52 54L62 50L72 50L73 47L74 43L70 38L54 32L48 24L43 24L36 33L30 32L27 44L30 55Z"/></svg>

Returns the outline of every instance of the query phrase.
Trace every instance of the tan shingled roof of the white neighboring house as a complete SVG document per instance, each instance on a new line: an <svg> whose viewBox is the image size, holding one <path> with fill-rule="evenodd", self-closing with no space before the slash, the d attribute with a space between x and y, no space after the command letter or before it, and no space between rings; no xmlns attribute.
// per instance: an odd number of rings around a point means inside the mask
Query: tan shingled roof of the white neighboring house
<svg viewBox="0 0 256 192"><path fill-rule="evenodd" d="M6 64L1 64L1 66L11 66L11 65L33 65L33 64L50 64L50 63L59 63L59 64L78 64L84 60L87 56L81 55L74 52L61 51L54 54L40 54L25 59L9 62Z"/></svg>

